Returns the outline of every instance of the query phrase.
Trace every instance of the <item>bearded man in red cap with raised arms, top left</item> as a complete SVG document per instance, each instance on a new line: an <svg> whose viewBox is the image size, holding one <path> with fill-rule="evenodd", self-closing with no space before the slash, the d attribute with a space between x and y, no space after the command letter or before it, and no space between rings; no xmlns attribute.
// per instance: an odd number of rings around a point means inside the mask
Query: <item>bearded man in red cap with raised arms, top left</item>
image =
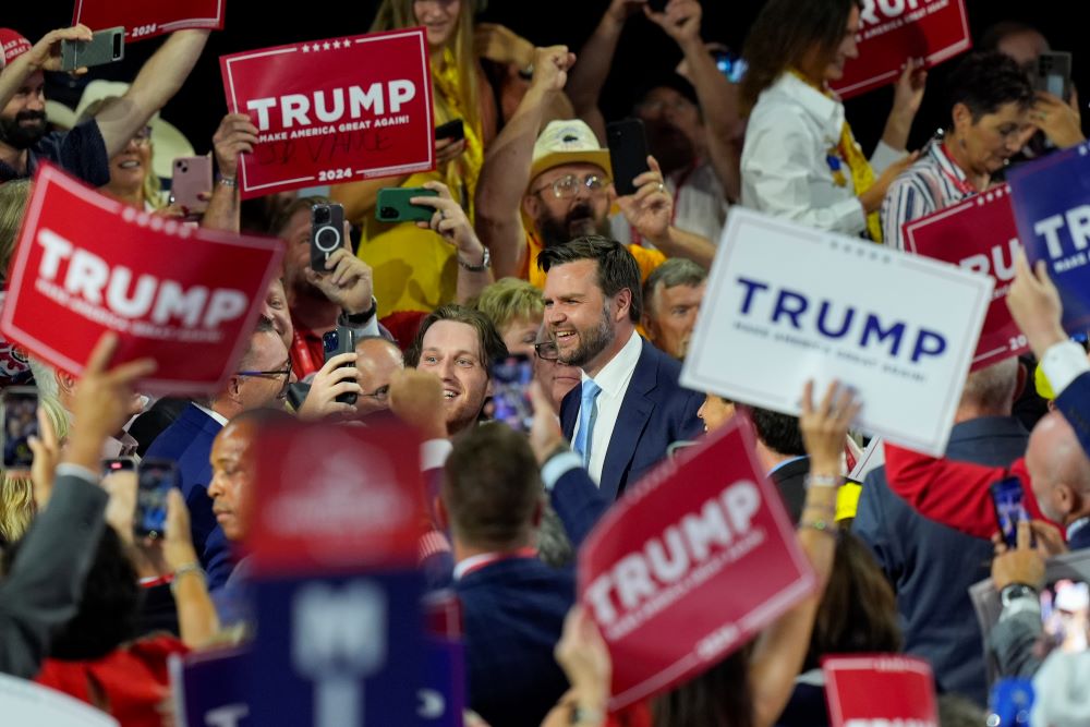
<svg viewBox="0 0 1090 727"><path fill-rule="evenodd" d="M0 28L0 183L33 177L51 161L92 186L110 181L109 159L182 87L201 57L208 31L178 31L144 63L124 96L68 132L47 132L45 71L60 70L62 40L89 40L83 25L52 31L32 46Z"/></svg>

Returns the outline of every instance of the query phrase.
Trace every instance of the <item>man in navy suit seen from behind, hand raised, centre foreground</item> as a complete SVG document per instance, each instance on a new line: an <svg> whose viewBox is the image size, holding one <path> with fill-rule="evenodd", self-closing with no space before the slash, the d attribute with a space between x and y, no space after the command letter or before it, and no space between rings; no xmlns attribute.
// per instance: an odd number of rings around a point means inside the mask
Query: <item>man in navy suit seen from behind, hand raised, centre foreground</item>
<svg viewBox="0 0 1090 727"><path fill-rule="evenodd" d="M540 725L568 689L553 650L574 602L574 572L536 555L542 488L574 547L608 504L565 445L547 398L534 393L532 445L504 424L467 432L447 459L437 507L457 564L470 707L513 727Z"/></svg>

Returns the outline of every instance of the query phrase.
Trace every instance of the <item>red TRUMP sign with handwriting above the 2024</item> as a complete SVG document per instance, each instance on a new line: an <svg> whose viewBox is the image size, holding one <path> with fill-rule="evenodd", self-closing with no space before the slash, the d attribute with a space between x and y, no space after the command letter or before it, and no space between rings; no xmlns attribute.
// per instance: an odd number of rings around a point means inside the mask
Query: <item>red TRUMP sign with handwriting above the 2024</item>
<svg viewBox="0 0 1090 727"><path fill-rule="evenodd" d="M433 169L427 52L412 28L220 58L228 107L258 130L242 196Z"/></svg>

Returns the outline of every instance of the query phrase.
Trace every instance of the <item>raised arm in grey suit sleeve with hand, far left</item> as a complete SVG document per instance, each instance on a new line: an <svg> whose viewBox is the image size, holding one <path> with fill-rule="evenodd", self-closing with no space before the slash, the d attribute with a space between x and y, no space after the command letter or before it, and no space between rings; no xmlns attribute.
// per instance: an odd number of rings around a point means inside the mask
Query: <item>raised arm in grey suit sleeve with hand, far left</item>
<svg viewBox="0 0 1090 727"><path fill-rule="evenodd" d="M57 468L49 507L31 525L0 580L0 673L25 679L36 675L51 634L76 614L106 524L107 495L98 486L102 445L129 417L133 383L155 371L148 359L106 371L116 350L117 338L107 335L92 353L76 390L76 424ZM36 457L46 455L41 444L33 448Z"/></svg>

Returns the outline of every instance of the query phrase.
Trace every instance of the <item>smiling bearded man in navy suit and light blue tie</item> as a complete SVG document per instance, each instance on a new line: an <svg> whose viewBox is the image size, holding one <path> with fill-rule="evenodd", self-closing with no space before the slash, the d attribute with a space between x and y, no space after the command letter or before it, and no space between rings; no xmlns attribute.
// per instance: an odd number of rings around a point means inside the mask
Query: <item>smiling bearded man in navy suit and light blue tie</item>
<svg viewBox="0 0 1090 727"><path fill-rule="evenodd" d="M639 480L679 439L703 431L703 395L681 388L681 365L635 331L640 268L601 237L546 247L545 324L560 362L582 369L560 405L565 436L609 499Z"/></svg>

